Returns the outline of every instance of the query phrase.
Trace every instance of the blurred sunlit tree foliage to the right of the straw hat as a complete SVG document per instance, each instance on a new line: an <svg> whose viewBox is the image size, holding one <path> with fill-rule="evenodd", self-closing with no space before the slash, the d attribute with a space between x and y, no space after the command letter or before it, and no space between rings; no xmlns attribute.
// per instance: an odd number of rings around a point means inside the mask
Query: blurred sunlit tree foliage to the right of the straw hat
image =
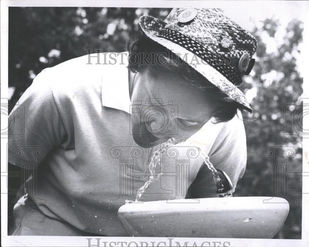
<svg viewBox="0 0 309 247"><path fill-rule="evenodd" d="M252 32L258 40L256 64L251 78L245 78L244 87L255 88L256 97L252 100L253 114L244 113L243 118L247 136L247 169L238 182L237 196L273 196L273 160L263 156L266 147L294 147L297 154L288 159L289 172L302 171L302 145L299 135L294 135L294 127L302 125L301 119L285 112L287 101L299 103L303 93L303 78L299 75L296 57L302 43L303 23L292 20L286 27L286 33L277 49L267 52L261 36L273 38L279 27L279 21L265 19L261 28ZM284 131L283 131L284 130ZM288 134L284 134L288 133ZM283 149L283 148L282 148ZM276 159L285 159L283 150ZM280 174L280 175L279 175ZM281 176L282 171L278 173ZM283 181L281 180L281 184ZM301 178L290 177L287 181L287 195L296 199L290 203L290 213L277 238L301 238L302 197L301 194L291 194L290 190L301 193ZM283 196L286 198L286 196Z"/></svg>

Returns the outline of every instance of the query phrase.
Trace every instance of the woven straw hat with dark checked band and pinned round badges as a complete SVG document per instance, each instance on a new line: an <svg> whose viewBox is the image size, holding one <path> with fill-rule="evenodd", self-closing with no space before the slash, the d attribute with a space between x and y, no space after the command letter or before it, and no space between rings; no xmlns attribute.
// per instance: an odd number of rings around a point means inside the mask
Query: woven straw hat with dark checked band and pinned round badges
<svg viewBox="0 0 309 247"><path fill-rule="evenodd" d="M212 8L180 8L167 23L141 16L138 26L143 35L171 50L252 112L237 87L254 64L257 41L248 31Z"/></svg>

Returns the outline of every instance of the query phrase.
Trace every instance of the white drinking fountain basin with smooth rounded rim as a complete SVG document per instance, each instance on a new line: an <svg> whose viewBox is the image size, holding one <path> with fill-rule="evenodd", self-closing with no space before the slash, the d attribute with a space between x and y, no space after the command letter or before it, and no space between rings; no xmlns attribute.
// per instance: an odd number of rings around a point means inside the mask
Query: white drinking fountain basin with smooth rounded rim
<svg viewBox="0 0 309 247"><path fill-rule="evenodd" d="M283 198L231 197L126 203L118 217L129 236L273 238L288 212Z"/></svg>

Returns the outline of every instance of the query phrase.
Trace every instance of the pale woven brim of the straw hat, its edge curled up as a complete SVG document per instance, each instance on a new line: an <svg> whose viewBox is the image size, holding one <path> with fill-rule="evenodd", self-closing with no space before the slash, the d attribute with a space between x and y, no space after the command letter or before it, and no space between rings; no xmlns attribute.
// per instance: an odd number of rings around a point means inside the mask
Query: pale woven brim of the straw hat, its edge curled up
<svg viewBox="0 0 309 247"><path fill-rule="evenodd" d="M247 111L252 113L251 106L248 103L246 96L239 90L238 87L226 79L224 75L222 75L214 67L207 64L196 54L170 40L158 37L160 30L166 25L165 22L152 16L143 15L140 17L138 24L140 31L144 35L171 50L171 52L175 53L178 57L180 57L180 59L188 63L189 66L197 70L197 72L203 75L222 92L226 93L231 100L235 100L239 104L243 105Z"/></svg>

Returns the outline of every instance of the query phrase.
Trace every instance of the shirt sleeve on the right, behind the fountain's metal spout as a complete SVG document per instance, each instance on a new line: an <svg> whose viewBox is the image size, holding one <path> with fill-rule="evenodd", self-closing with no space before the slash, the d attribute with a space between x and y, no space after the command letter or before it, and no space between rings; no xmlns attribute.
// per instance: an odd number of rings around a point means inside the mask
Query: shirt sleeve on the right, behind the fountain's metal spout
<svg viewBox="0 0 309 247"><path fill-rule="evenodd" d="M247 163L246 134L243 121L238 116L223 125L210 149L209 157L215 168L223 170L230 177L234 192ZM206 165L200 168L190 190L193 196L198 195L200 198L217 196L213 175Z"/></svg>

